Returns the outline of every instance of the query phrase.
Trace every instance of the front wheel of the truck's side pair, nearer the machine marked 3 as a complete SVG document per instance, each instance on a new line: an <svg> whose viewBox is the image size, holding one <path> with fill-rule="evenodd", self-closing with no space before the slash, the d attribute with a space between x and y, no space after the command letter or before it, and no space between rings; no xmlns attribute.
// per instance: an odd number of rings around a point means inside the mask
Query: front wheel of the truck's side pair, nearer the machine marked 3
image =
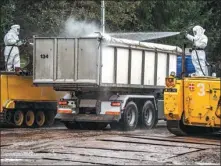
<svg viewBox="0 0 221 166"><path fill-rule="evenodd" d="M158 121L157 111L151 101L146 101L144 103L141 112L141 124L146 129L152 129L156 126Z"/></svg>

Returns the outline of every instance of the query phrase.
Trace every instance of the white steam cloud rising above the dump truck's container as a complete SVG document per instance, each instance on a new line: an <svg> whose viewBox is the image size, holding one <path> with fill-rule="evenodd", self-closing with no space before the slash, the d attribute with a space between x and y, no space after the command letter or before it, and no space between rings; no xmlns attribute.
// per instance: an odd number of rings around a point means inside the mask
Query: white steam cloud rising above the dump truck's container
<svg viewBox="0 0 221 166"><path fill-rule="evenodd" d="M64 37L83 37L95 36L95 32L100 32L99 26L94 22L77 21L73 17L68 18L64 23L61 36Z"/></svg>

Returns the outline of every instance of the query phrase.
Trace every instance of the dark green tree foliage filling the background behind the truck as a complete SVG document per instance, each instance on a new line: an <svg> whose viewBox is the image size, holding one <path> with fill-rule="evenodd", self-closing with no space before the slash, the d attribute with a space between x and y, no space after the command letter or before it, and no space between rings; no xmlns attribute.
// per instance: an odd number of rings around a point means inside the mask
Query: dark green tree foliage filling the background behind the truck
<svg viewBox="0 0 221 166"><path fill-rule="evenodd" d="M70 16L100 26L101 1L92 0L1 0L0 38L14 23L21 25L21 38L57 36ZM216 60L221 52L221 1L218 0L105 0L107 32L185 31L194 25L206 29L207 52ZM183 36L154 42L182 46ZM191 43L188 42L188 46Z"/></svg>

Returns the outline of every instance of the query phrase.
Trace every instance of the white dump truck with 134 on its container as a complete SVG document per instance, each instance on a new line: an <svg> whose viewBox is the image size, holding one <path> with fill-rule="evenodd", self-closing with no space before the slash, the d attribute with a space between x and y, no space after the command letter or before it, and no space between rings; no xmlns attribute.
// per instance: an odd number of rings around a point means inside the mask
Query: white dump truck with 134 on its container
<svg viewBox="0 0 221 166"><path fill-rule="evenodd" d="M33 82L69 92L55 117L69 129L151 129L165 119L165 78L181 54L177 46L101 34L34 37Z"/></svg>

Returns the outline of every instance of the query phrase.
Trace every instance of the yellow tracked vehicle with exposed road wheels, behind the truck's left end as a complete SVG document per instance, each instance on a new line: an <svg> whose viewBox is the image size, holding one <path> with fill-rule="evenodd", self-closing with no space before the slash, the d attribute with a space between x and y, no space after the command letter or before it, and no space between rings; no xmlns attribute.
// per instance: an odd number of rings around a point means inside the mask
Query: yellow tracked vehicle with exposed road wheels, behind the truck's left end
<svg viewBox="0 0 221 166"><path fill-rule="evenodd" d="M1 127L43 127L53 125L57 112L57 102L62 95L64 93L56 92L52 87L34 86L32 72L24 68L6 71L3 49L1 49Z"/></svg>

